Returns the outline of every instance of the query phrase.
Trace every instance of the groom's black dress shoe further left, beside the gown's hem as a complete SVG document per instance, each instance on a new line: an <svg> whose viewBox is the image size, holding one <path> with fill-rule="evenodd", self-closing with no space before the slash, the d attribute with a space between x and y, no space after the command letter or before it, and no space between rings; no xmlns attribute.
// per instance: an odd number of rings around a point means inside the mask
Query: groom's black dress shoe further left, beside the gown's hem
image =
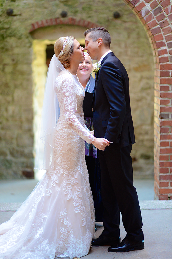
<svg viewBox="0 0 172 259"><path fill-rule="evenodd" d="M103 236L102 234L99 236L99 238L95 238L92 239L92 246L105 246L105 245L111 245L114 246L116 244L120 243L120 236L118 236L117 238L114 237L107 237L107 236Z"/></svg>

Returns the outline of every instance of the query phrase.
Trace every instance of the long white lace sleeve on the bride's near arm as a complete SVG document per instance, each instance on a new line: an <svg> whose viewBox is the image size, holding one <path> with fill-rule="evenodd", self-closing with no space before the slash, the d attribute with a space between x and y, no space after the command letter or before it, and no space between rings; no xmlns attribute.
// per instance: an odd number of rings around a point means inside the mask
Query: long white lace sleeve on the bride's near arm
<svg viewBox="0 0 172 259"><path fill-rule="evenodd" d="M70 75L63 75L61 90L65 120L73 131L75 131L82 139L90 144L94 140L94 136L80 124L77 117L75 116L77 107L75 83Z"/></svg>

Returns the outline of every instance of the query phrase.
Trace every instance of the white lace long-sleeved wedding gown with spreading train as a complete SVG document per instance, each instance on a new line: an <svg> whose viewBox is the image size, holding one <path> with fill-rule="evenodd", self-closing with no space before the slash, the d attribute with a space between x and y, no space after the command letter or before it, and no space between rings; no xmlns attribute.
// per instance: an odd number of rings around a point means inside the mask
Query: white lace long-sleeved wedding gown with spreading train
<svg viewBox="0 0 172 259"><path fill-rule="evenodd" d="M12 218L0 225L1 259L82 257L91 246L95 215L84 140L90 143L94 137L84 127L84 117L76 117L85 91L77 76L63 74L56 78L55 92L61 117L51 170Z"/></svg>

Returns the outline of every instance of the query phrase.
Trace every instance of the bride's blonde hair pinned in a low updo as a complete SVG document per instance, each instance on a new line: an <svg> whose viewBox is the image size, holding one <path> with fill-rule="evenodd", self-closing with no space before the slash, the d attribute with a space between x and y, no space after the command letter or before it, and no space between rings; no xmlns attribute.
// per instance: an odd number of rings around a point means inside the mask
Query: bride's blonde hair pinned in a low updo
<svg viewBox="0 0 172 259"><path fill-rule="evenodd" d="M71 59L70 56L73 53L73 47L74 47L73 40L75 39L75 37L73 37L73 36L68 37L64 50L60 54L60 52L63 49L63 44L64 44L64 41L66 40L66 38L67 37L60 37L58 40L56 40L56 42L54 44L54 53L64 68L70 67L69 62Z"/></svg>

